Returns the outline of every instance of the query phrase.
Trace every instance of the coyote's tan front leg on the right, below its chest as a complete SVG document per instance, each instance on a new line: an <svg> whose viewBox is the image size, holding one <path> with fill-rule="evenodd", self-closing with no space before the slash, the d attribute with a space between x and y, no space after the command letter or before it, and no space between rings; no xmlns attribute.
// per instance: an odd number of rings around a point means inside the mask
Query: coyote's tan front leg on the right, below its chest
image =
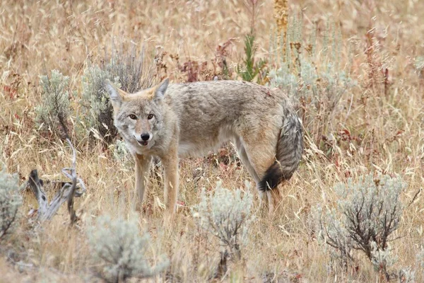
<svg viewBox="0 0 424 283"><path fill-rule="evenodd" d="M167 212L173 214L178 195L178 155L177 149L172 149L161 158L165 169L165 205Z"/></svg>

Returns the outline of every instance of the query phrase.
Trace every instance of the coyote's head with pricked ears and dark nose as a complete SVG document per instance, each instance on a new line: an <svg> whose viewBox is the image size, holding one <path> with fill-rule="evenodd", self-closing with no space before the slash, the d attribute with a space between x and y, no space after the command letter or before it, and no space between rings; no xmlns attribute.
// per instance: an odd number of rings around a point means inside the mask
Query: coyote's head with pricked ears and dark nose
<svg viewBox="0 0 424 283"><path fill-rule="evenodd" d="M136 149L150 149L163 127L162 103L168 79L137 93L126 93L109 80L105 88L114 110L114 125L127 143Z"/></svg>

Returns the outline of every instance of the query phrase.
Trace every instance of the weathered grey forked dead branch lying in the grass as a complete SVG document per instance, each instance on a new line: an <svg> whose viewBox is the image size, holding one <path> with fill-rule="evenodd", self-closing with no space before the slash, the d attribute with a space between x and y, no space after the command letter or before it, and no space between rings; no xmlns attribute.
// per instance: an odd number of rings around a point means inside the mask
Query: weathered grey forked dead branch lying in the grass
<svg viewBox="0 0 424 283"><path fill-rule="evenodd" d="M54 214L64 202L68 201L68 212L71 216L71 225L76 222L78 217L76 216L75 210L73 209L73 197L81 197L84 192L86 192L86 185L84 184L81 178L76 176L76 150L74 149L71 141L68 141L69 146L71 146L73 152L72 158L72 167L63 168L62 173L71 179L71 182L64 182L61 189L54 195L52 202L48 202L47 196L43 189L43 180L38 177L37 170L34 169L30 173L28 179L28 186L33 191L35 198L38 202L37 215L40 221L46 221L52 219Z"/></svg>

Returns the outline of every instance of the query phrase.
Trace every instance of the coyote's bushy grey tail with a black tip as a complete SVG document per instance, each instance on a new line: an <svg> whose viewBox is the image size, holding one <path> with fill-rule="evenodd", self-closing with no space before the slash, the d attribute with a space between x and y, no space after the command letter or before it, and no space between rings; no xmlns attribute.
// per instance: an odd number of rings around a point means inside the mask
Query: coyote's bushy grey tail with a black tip
<svg viewBox="0 0 424 283"><path fill-rule="evenodd" d="M272 190L281 181L289 180L299 166L303 152L302 123L293 113L284 117L278 139L276 162L259 182L259 190Z"/></svg>

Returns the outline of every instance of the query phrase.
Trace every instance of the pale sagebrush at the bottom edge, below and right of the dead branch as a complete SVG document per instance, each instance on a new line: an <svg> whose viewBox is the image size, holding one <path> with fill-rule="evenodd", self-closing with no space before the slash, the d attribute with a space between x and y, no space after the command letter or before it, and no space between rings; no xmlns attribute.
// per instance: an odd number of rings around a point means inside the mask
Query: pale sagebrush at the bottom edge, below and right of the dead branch
<svg viewBox="0 0 424 283"><path fill-rule="evenodd" d="M136 219L126 221L119 217L99 216L96 225L88 229L88 240L93 258L101 262L102 277L108 282L123 282L131 277L153 277L169 264L163 259L151 267L146 250L151 242L150 235L140 236Z"/></svg>

